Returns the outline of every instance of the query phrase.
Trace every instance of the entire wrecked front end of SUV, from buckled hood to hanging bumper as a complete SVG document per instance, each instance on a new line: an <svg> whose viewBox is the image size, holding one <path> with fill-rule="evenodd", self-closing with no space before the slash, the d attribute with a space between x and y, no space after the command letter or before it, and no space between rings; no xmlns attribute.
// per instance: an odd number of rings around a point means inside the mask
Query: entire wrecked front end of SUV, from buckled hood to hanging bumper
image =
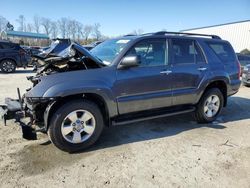
<svg viewBox="0 0 250 188"><path fill-rule="evenodd" d="M17 89L18 99L6 98L5 104L0 105L0 118L4 124L6 125L7 120L14 120L21 126L23 138L28 140L36 140L37 132L47 133L50 107L59 98L59 96L44 97L51 87L62 79L71 79L73 71L78 71L76 74L81 76L79 70L106 66L101 60L75 43L63 50L60 56L50 57L43 61L44 64L37 69L36 75L27 77L33 83L33 87L27 89L22 97ZM65 76L69 72L72 73L71 76Z"/></svg>

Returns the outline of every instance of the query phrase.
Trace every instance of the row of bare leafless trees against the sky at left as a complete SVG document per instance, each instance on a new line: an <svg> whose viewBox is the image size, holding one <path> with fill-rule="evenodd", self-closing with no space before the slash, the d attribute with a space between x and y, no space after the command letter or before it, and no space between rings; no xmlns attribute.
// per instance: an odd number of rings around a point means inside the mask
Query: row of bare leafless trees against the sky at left
<svg viewBox="0 0 250 188"><path fill-rule="evenodd" d="M30 23L26 22L24 15L19 15L16 22L18 27L15 30L17 31L45 33L50 38L70 38L75 41L84 40L85 42L90 39L101 40L105 38L100 31L101 25L99 23L84 25L75 19L66 17L52 20L35 15ZM0 15L0 32L6 30L7 23L8 20Z"/></svg>

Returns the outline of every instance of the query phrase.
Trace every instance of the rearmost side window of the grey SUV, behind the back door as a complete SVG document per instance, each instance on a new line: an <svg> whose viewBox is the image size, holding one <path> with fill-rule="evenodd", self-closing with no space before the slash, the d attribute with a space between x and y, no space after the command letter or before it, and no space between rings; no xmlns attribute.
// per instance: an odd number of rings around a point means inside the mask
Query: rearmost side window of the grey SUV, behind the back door
<svg viewBox="0 0 250 188"><path fill-rule="evenodd" d="M221 61L235 61L235 53L229 44L222 42L207 42L207 44Z"/></svg>

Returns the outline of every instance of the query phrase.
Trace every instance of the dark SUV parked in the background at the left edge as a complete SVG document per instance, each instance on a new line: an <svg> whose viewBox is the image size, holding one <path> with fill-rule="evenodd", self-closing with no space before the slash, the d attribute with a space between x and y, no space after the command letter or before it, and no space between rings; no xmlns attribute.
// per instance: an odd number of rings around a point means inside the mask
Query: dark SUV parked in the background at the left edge
<svg viewBox="0 0 250 188"><path fill-rule="evenodd" d="M2 72L15 72L17 67L27 67L30 61L30 55L19 44L0 40L0 69Z"/></svg>

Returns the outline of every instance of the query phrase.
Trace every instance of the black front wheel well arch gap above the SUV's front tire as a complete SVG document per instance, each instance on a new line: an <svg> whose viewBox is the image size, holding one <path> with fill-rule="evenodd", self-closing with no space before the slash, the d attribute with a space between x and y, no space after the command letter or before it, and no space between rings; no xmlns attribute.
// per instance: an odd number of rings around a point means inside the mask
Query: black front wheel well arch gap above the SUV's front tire
<svg viewBox="0 0 250 188"><path fill-rule="evenodd" d="M52 108L48 112L49 116L48 116L46 125L48 126L48 124L50 122L50 119L52 117L52 114L54 114L54 112L58 108L60 108L66 102L69 102L71 100L77 100L77 99L82 99L83 101L84 101L84 99L87 99L87 100L97 104L98 107L101 110L102 115L103 115L105 125L106 126L110 125L110 119L109 119L107 104L105 103L105 100L100 95L95 94L95 93L76 94L76 95L70 95L70 96L59 98L59 100L56 101L56 103L52 106ZM48 129L48 127L47 127L47 129Z"/></svg>

